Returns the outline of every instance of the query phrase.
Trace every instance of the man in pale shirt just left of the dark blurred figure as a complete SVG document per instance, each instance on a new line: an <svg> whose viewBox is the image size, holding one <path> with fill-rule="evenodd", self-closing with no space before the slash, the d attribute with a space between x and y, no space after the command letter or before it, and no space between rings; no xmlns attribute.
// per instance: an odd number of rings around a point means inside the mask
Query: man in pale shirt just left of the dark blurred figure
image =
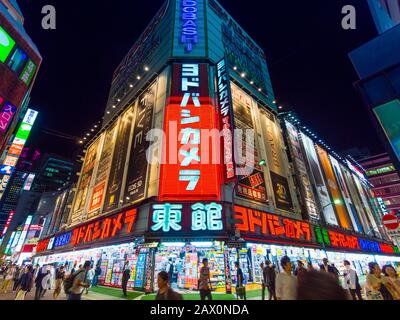
<svg viewBox="0 0 400 320"><path fill-rule="evenodd" d="M288 256L282 257L281 266L283 271L276 276L276 296L278 300L296 300L297 279Z"/></svg>

